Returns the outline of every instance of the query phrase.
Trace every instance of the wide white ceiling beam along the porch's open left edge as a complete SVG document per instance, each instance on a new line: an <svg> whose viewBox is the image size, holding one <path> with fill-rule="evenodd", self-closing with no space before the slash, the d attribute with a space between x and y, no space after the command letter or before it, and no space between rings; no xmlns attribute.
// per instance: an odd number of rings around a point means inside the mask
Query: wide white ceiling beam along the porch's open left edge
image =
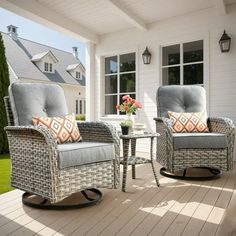
<svg viewBox="0 0 236 236"><path fill-rule="evenodd" d="M0 7L83 42L99 42L99 36L78 23L51 11L35 0L1 0Z"/></svg>

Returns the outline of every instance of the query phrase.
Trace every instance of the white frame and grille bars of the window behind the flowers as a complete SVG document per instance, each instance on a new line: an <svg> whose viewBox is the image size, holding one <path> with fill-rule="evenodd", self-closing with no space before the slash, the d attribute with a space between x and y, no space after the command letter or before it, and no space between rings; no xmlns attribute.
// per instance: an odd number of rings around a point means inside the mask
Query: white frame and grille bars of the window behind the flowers
<svg viewBox="0 0 236 236"><path fill-rule="evenodd" d="M132 54L134 53L135 55L135 70L134 71L126 71L126 72L120 72L120 56L121 55L125 55L125 54ZM105 59L109 58L109 57L117 57L117 72L116 73L108 73L106 74L105 72ZM131 50L131 51L122 51L119 53L114 53L114 54L110 54L110 55L105 55L103 56L103 75L102 75L102 79L103 79L103 101L104 101L104 107L103 107L103 117L110 117L110 118L119 118L119 117L124 117L124 114L120 114L119 111L117 111L116 114L106 114L105 110L106 110L106 104L105 104L105 100L106 100L106 96L112 96L112 95L116 95L117 96L117 103L116 104L120 104L120 96L121 95L132 95L135 94L135 98L138 99L138 87L137 87L137 82L138 82L138 75L137 75L137 71L138 71L138 57L137 57L137 51L136 50ZM120 75L123 74L134 74L135 75L135 92L126 92L126 93L120 93ZM117 93L107 93L105 92L105 77L106 76L117 76Z"/></svg>

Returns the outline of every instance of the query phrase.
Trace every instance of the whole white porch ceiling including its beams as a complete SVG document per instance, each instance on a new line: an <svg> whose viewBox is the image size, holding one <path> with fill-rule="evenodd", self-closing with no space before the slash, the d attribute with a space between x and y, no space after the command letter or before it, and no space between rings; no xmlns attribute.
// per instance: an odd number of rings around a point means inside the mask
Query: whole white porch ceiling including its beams
<svg viewBox="0 0 236 236"><path fill-rule="evenodd" d="M226 14L236 0L1 0L0 7L83 41L171 17L215 8Z"/></svg>

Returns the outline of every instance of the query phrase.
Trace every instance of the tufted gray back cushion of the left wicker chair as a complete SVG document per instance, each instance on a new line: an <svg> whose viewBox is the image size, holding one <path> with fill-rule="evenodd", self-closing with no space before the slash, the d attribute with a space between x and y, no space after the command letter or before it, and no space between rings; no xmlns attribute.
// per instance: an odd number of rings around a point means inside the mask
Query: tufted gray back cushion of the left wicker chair
<svg viewBox="0 0 236 236"><path fill-rule="evenodd" d="M32 125L33 116L68 114L64 91L56 84L13 83L9 97L15 125Z"/></svg>

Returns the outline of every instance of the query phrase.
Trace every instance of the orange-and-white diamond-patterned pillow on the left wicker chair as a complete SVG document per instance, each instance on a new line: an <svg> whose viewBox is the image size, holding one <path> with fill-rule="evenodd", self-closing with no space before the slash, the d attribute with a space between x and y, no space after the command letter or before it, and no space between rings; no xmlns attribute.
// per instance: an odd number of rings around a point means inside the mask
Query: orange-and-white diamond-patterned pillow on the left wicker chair
<svg viewBox="0 0 236 236"><path fill-rule="evenodd" d="M33 124L44 125L50 129L59 144L78 142L82 139L74 114L62 117L33 117Z"/></svg>

